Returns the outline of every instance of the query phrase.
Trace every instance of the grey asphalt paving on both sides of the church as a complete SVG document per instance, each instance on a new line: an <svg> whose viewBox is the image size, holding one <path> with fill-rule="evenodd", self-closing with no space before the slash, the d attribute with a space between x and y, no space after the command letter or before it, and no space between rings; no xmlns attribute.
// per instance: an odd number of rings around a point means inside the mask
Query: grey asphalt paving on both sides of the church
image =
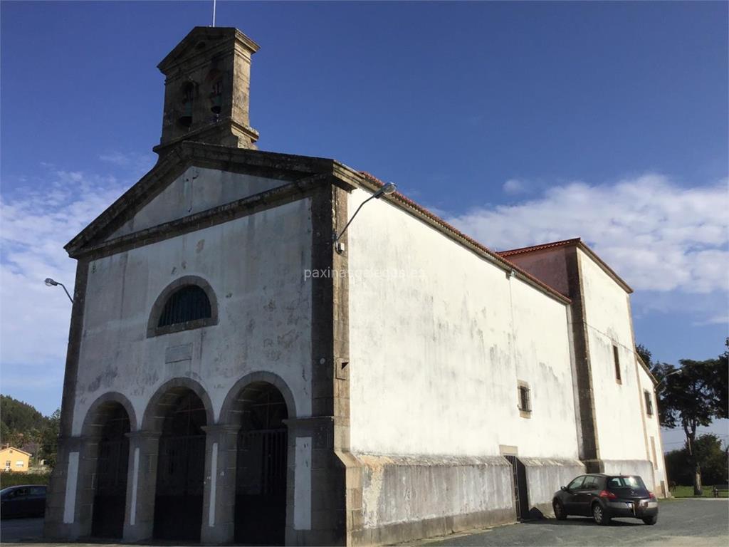
<svg viewBox="0 0 729 547"><path fill-rule="evenodd" d="M725 547L729 545L729 503L727 500L670 500L660 503L658 524L616 519L612 526L597 526L592 520L569 517L566 521L545 519L511 524L472 534L425 540L421 546L510 547L510 546L644 546ZM28 547L52 544L40 538L43 519L1 521L2 543L22 541ZM87 545L87 544L86 544ZM76 543L74 547L81 547ZM66 546L67 547L67 546ZM112 547L106 544L106 547Z"/></svg>

